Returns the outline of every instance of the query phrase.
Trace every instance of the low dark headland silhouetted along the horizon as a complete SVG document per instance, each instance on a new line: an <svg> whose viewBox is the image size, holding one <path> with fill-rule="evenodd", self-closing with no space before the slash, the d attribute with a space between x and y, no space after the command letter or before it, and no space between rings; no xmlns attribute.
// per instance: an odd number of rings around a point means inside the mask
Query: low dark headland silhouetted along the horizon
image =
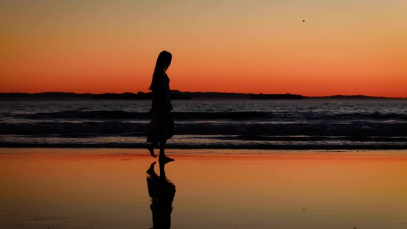
<svg viewBox="0 0 407 229"><path fill-rule="evenodd" d="M407 99L390 97L373 97L366 95L332 95L326 97L307 97L299 94L250 94L228 92L180 92L171 90L171 99ZM0 93L0 100L69 100L69 99L121 99L121 100L148 100L152 98L151 92L124 92L124 93L73 93L73 92L41 92L41 93Z"/></svg>

